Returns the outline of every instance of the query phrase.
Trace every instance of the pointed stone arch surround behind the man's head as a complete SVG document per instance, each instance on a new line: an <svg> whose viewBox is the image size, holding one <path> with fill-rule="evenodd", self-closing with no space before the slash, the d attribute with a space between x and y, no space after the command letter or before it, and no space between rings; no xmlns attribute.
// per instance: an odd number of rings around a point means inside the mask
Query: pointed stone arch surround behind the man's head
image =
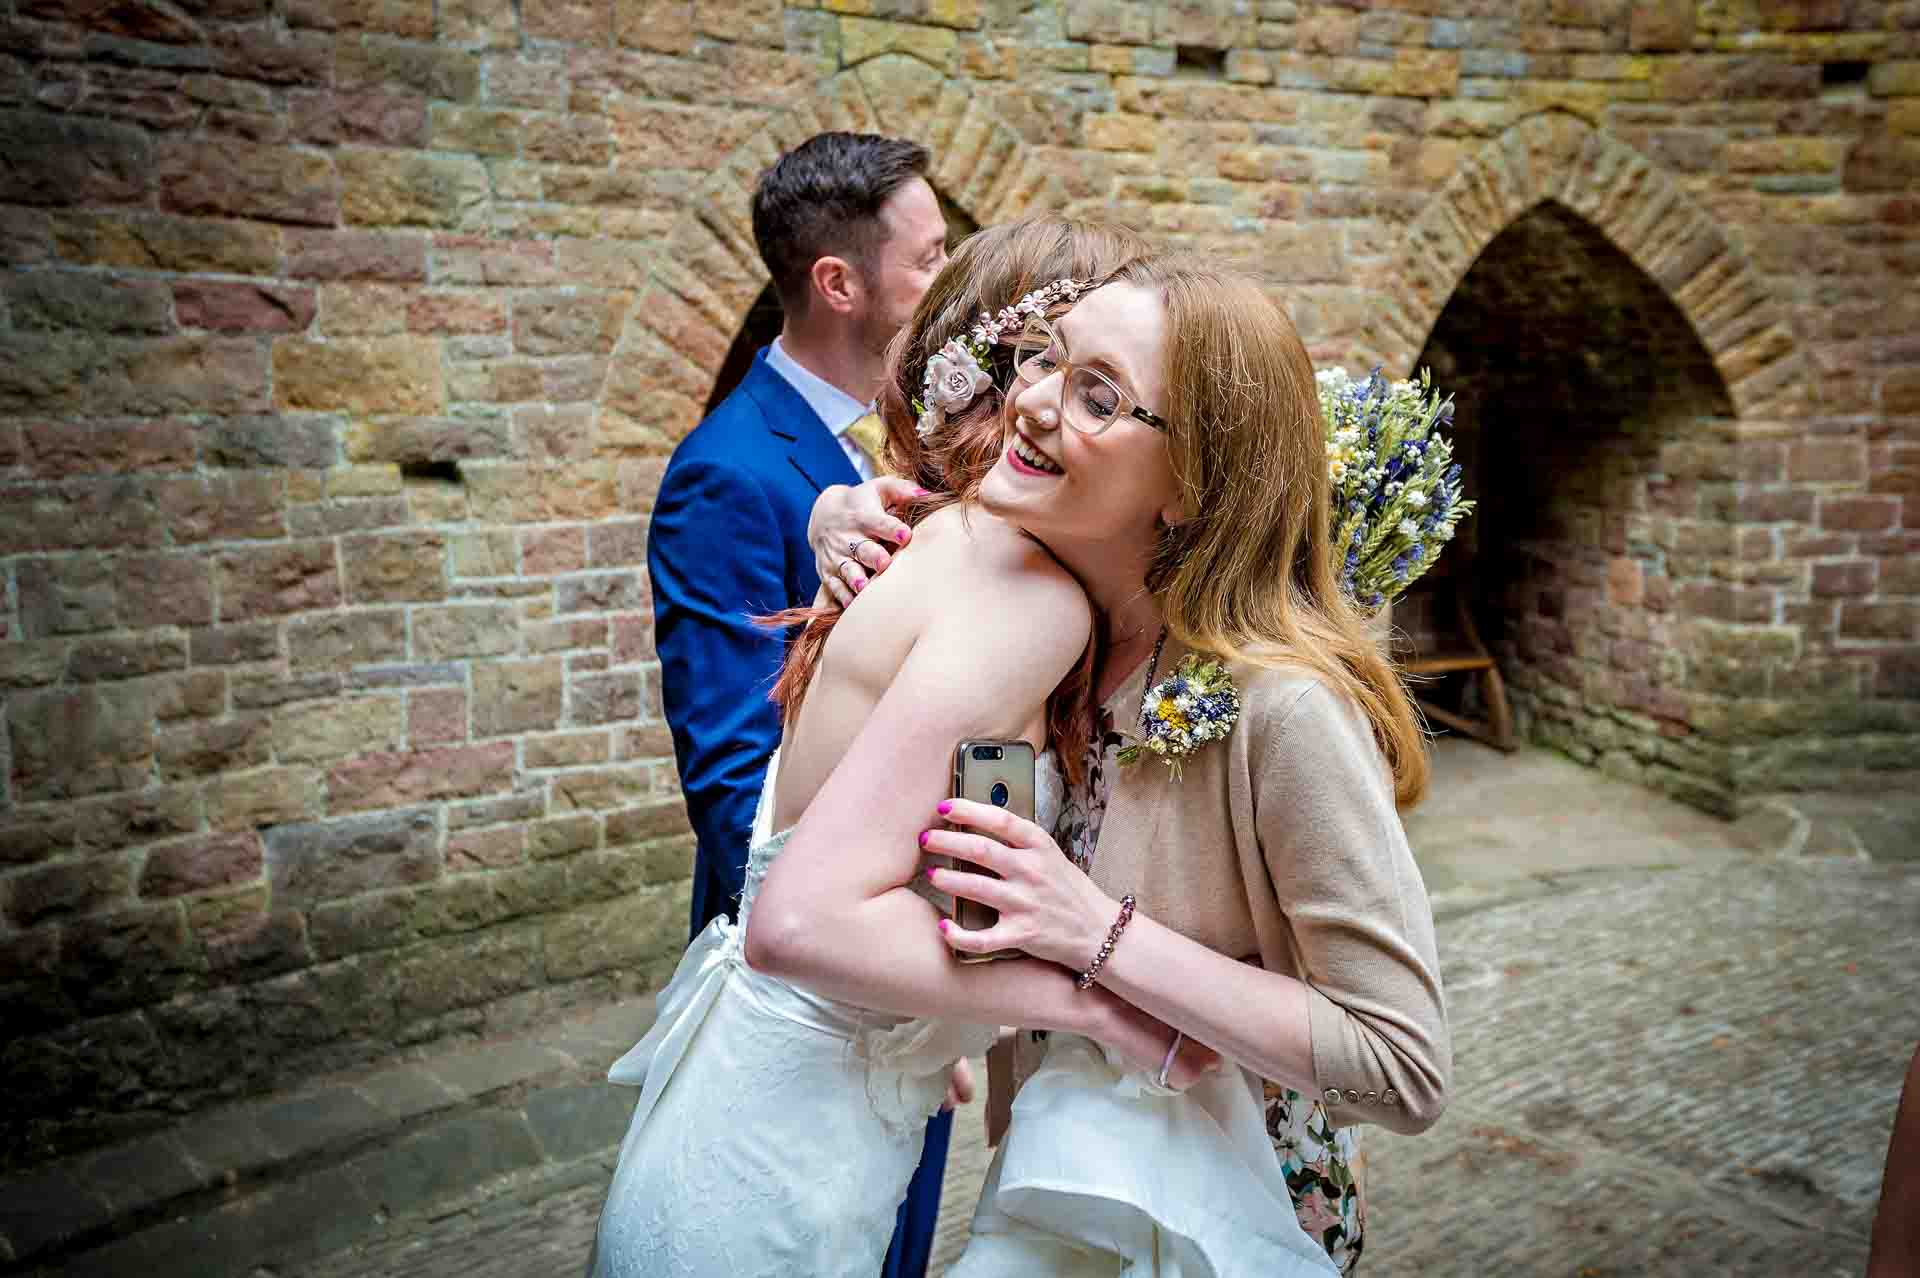
<svg viewBox="0 0 1920 1278"><path fill-rule="evenodd" d="M755 177L824 129L912 138L933 152L933 186L979 226L1060 209L1068 194L966 84L904 54L822 81L728 155L662 238L628 309L601 388L595 451L662 455L701 418L766 271L753 246Z"/></svg>

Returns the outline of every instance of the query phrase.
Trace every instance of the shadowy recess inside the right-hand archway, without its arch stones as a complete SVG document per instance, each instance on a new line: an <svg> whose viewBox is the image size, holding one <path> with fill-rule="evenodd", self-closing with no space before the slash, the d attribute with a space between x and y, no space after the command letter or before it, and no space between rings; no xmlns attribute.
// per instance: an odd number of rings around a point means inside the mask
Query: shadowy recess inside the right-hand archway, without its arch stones
<svg viewBox="0 0 1920 1278"><path fill-rule="evenodd" d="M1734 476L1695 464L1734 416L1713 357L1645 271L1544 201L1488 242L1415 367L1455 395L1480 505L1396 624L1415 651L1442 645L1457 597L1523 739L1659 781L1688 718L1674 597L1738 572L1711 509ZM1469 718L1476 695L1473 679L1421 689Z"/></svg>

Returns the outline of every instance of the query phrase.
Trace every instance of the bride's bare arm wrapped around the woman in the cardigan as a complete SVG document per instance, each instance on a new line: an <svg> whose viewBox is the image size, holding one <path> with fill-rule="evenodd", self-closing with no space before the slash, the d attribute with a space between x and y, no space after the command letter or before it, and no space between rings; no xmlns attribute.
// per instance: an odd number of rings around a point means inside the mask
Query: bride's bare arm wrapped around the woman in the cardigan
<svg viewBox="0 0 1920 1278"><path fill-rule="evenodd" d="M954 745L1020 733L1087 629L1079 589L1052 574L943 595L768 871L747 961L862 1007L1083 1032L1158 1067L1169 1034L1150 1017L1077 992L1054 963L958 963L933 906L904 887L920 873L918 835L947 791Z"/></svg>

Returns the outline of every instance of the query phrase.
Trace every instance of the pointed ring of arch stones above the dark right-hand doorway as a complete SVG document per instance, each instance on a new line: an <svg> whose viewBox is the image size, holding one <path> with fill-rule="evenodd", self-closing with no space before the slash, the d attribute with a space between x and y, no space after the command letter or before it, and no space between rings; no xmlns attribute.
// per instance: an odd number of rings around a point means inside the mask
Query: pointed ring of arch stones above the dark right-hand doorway
<svg viewBox="0 0 1920 1278"><path fill-rule="evenodd" d="M1741 416L1807 411L1807 363L1784 309L1715 219L1659 165L1549 111L1486 142L1407 225L1369 342L1407 370L1486 246L1555 201L1592 223L1693 326Z"/></svg>

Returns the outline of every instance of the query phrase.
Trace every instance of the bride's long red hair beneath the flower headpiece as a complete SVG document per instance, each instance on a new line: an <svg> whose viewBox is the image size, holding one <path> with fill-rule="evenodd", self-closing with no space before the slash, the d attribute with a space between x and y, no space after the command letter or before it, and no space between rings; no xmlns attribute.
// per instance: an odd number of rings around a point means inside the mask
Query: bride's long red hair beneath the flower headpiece
<svg viewBox="0 0 1920 1278"><path fill-rule="evenodd" d="M964 336L981 313L1014 305L1054 280L1106 280L1129 261L1150 251L1146 240L1125 226L1083 223L1066 217L1027 217L989 226L954 249L947 267L927 288L914 319L887 347L887 378L876 403L887 426L885 457L891 474L927 489L900 518L924 518L960 501L972 501L981 482L1000 459L1002 390L1012 382L1012 351L996 347L989 372L995 390L981 393L964 411L948 416L925 439L916 428L914 399L927 370L927 357L952 338ZM828 635L839 622L833 606L789 608L760 618L768 626L801 627L787 645L787 658L774 681L774 702L791 718L806 698ZM1098 635L1098 627L1094 629ZM1100 645L1087 643L1079 664L1046 698L1046 745L1068 777L1081 779L1081 745L1092 737L1092 685Z"/></svg>

